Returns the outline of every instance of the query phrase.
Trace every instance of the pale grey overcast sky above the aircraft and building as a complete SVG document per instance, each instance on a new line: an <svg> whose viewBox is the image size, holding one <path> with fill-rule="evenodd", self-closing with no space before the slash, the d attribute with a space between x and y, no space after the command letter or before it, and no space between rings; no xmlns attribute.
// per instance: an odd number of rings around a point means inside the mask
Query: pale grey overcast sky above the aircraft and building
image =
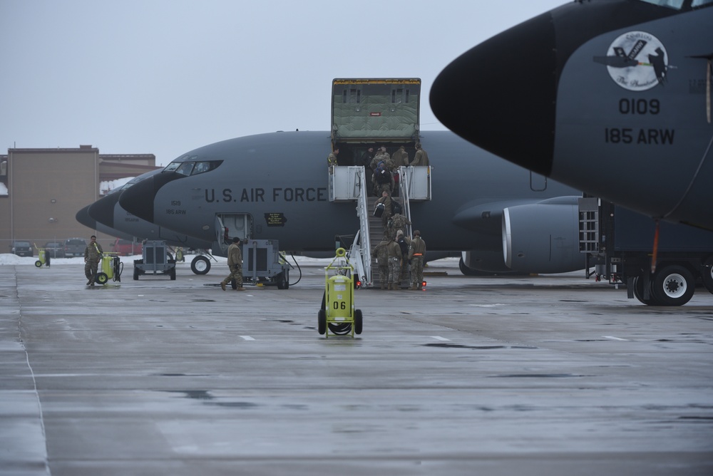
<svg viewBox="0 0 713 476"><path fill-rule="evenodd" d="M421 78L565 0L0 0L0 153L329 130L334 78ZM517 58L513 58L517 61ZM487 65L483 65L487 67Z"/></svg>

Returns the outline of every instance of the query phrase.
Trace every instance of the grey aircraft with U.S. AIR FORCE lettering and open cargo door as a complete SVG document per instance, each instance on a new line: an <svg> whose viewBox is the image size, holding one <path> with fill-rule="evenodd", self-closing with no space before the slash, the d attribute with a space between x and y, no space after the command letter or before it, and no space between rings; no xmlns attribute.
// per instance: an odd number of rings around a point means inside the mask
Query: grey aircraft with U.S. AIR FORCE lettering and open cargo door
<svg viewBox="0 0 713 476"><path fill-rule="evenodd" d="M449 131L422 132L431 200L411 202L411 222L431 252L463 252L463 271L583 269L580 192L474 147ZM340 145L352 165L367 145ZM277 239L288 252L334 252L354 235L354 202L330 201L329 132L278 132L225 140L173 160L123 190L120 206L147 222L212 242ZM413 151L411 152L413 155ZM337 167L341 168L341 167ZM510 255L503 254L503 249Z"/></svg>

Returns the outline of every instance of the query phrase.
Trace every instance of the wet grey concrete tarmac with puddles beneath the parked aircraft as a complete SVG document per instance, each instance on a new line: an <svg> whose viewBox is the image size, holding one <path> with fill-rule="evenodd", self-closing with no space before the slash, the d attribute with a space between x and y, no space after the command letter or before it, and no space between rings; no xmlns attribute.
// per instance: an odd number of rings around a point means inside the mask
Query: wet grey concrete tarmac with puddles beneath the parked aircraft
<svg viewBox="0 0 713 476"><path fill-rule="evenodd" d="M220 264L125 266L95 289L0 266L1 475L713 474L703 288L649 307L441 260L426 291L356 291L363 333L324 338L324 264L242 292Z"/></svg>

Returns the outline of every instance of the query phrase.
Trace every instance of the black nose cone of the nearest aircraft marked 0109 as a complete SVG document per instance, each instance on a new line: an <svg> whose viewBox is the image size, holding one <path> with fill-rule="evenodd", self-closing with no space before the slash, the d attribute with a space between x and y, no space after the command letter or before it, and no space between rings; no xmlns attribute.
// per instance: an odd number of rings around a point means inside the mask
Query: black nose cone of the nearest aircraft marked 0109
<svg viewBox="0 0 713 476"><path fill-rule="evenodd" d="M431 109L462 138L548 175L555 130L555 28L550 14L463 53L438 75Z"/></svg>

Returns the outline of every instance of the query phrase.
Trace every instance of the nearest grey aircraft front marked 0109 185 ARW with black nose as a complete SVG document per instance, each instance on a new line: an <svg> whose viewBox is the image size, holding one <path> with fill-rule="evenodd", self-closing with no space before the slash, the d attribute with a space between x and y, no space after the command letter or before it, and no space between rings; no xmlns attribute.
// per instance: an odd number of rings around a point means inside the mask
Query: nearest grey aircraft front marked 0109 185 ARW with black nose
<svg viewBox="0 0 713 476"><path fill-rule="evenodd" d="M431 108L494 154L713 229L713 0L574 1L449 64Z"/></svg>

